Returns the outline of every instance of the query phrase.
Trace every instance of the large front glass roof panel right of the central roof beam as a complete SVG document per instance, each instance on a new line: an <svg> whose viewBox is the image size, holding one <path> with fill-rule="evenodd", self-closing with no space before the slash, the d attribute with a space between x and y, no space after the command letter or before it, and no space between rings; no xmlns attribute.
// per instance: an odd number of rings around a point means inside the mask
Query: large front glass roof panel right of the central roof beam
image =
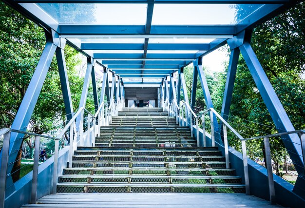
<svg viewBox="0 0 305 208"><path fill-rule="evenodd" d="M264 4L155 4L152 24L236 24L262 5Z"/></svg>

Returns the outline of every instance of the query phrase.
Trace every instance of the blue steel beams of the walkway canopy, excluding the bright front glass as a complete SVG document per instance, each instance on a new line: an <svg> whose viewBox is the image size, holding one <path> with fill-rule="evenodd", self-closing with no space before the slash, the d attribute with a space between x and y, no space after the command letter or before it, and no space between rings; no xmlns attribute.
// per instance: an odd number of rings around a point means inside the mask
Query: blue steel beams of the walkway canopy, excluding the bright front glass
<svg viewBox="0 0 305 208"><path fill-rule="evenodd" d="M40 57L37 69L19 107L12 129L26 129L55 51L57 52L58 68L66 112L67 114L73 113L69 83L62 51L64 42L67 42L67 44L88 57L88 68L86 71L85 83L79 107L85 106L89 79L91 76L94 88L95 109L98 108L99 103L104 101L105 95L107 95L108 103L113 98L116 101L118 96L124 95L124 84L157 83L160 84L161 95L169 99L176 99L172 73L179 70L177 100L180 100L180 89L182 86L185 101L188 103L189 100L186 96L187 92L183 76L183 67L190 63L194 63L193 86L190 103L191 108L194 108L195 105L198 74L207 107L212 107L213 104L210 98L208 85L201 66L201 57L228 42L232 52L223 101L222 116L226 118L229 114L230 100L232 97L240 50L267 105L271 117L278 128L278 131L294 130L282 104L274 93L262 66L251 49L249 41L250 33L253 28L272 17L275 17L287 8L294 6L299 2L298 0L4 0L4 2L41 25L45 29L47 36L45 49ZM79 19L74 22L72 20L70 22L65 22L60 19L59 10L55 12L53 11L53 13L51 11L51 5L54 6L56 3L78 3L71 4L72 7L81 6L83 3L90 4L93 7L95 6L94 3L110 3L116 5L124 3L130 4L131 7L133 4L146 4L146 23L84 24L83 22L80 22ZM163 4L194 4L194 7L197 5L215 4L216 8L216 4L237 4L242 6L245 11L248 11L248 14L239 20L232 19L232 21L236 23L230 24L209 23L202 25L179 25L179 22L176 22L175 24L155 24L153 17L155 15L154 8L156 7L156 4L158 6L162 6ZM248 5L254 5L254 9L247 7ZM69 10L69 12L73 11L73 8ZM205 41L204 43L200 41L202 39L207 40L207 38L213 39ZM119 39L125 39L125 41L116 41ZM139 39L142 42L139 42ZM151 42L153 39L160 41ZM195 41L186 41L190 39ZM182 41L175 42L175 40ZM95 64L99 64L104 68L103 86L100 93L99 103L95 83ZM113 73L111 93L109 91L108 73ZM115 82L116 75L119 76L117 79L117 88ZM168 76L171 76L170 86L167 80ZM164 91L162 87L163 81L165 81ZM120 84L122 84L122 87L120 87ZM67 118L69 119L68 116ZM81 122L81 120L81 118L78 118L79 122ZM214 124L215 131L218 131L218 123L216 119L214 119L214 122L216 122ZM19 149L21 144L20 138L22 137L22 134L17 133L12 133L11 135L13 145L11 145L10 149L10 162L14 161L16 158L17 152L14 150ZM298 148L298 146L293 142L299 144L300 141L294 137L284 138L286 139L284 141L285 146L295 164L296 170L299 173L299 178L295 185L295 191L298 191L298 187L302 187L305 184L305 172L303 169L304 161L301 156L299 156L301 155L300 148ZM12 167L9 167L9 170L11 170L11 168ZM9 185L10 182L8 180L8 186Z"/></svg>

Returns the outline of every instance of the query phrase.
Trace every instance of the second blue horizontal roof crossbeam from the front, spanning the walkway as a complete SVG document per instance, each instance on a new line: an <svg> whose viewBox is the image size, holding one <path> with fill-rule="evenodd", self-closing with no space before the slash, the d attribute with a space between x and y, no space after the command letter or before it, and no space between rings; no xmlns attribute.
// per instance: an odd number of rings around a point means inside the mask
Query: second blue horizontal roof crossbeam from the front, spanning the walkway
<svg viewBox="0 0 305 208"><path fill-rule="evenodd" d="M142 43L81 43L82 50L144 50ZM209 43L149 43L147 50L210 50ZM145 58L145 57L144 57Z"/></svg>

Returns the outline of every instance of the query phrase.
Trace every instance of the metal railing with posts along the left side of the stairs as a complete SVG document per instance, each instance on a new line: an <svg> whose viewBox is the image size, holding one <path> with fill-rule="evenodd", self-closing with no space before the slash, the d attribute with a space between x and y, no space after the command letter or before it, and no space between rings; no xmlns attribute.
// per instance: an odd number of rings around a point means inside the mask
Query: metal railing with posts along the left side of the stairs
<svg viewBox="0 0 305 208"><path fill-rule="evenodd" d="M32 132L24 132L14 129L2 129L0 130L0 137L3 135L3 146L1 149L2 159L1 159L1 171L0 171L0 208L4 208L5 203L5 192L6 192L6 179L10 174L7 174L8 158L9 158L9 148L10 148L10 133L18 132L24 135L35 136L35 154L34 154L34 165L33 165L33 179L32 179L32 191L30 203L35 204L37 200L37 181L38 181L38 165L39 165L39 143L40 137L53 139L55 141L54 150L54 165L53 165L53 184L52 184L52 194L56 194L57 187L57 166L58 166L58 151L59 151L59 140L64 136L64 134L70 130L70 144L69 144L69 158L68 167L72 167L73 152L78 146L95 146L95 136L99 136L99 129L101 126L109 126L112 122L112 116L118 115L118 111L121 111L124 106L125 99L118 99L117 102L110 103L109 106L102 102L95 114L90 113L87 109L81 107L71 118L71 120L66 124L66 126L61 130L61 132L56 136L48 136L43 134L37 134ZM84 132L84 126L77 129L76 118L81 116L83 119L83 114L87 114L87 131ZM80 127L80 125L79 125ZM97 133L96 133L97 132ZM38 148L37 148L38 147Z"/></svg>

